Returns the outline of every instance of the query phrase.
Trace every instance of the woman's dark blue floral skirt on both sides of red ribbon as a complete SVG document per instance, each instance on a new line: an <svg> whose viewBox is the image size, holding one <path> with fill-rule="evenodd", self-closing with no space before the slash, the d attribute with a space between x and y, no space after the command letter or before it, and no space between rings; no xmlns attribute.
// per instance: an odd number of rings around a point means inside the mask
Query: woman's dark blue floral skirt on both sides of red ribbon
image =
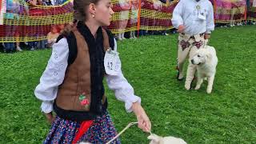
<svg viewBox="0 0 256 144"><path fill-rule="evenodd" d="M72 143L81 123L62 119L57 116L51 126L50 133L43 143ZM106 143L116 135L117 132L114 124L106 111L105 114L94 120L90 128L82 135L78 142ZM111 143L120 144L121 142L117 138Z"/></svg>

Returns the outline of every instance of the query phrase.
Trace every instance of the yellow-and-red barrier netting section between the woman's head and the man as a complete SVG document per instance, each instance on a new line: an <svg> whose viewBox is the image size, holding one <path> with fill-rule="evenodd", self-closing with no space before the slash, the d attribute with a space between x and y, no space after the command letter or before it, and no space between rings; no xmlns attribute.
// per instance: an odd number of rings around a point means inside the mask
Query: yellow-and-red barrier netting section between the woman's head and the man
<svg viewBox="0 0 256 144"><path fill-rule="evenodd" d="M138 0L114 2L115 14L108 27L113 33L138 29L168 30L173 28L170 19L177 1L162 3L158 0L142 0L141 5L138 5L138 2Z"/></svg>

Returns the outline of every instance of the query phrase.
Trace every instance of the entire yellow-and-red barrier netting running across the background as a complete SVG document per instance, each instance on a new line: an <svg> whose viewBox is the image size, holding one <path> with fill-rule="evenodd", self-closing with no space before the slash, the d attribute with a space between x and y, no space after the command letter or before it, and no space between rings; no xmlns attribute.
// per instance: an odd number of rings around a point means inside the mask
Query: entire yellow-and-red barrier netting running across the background
<svg viewBox="0 0 256 144"><path fill-rule="evenodd" d="M19 11L6 10L6 2L19 4ZM256 20L253 0L211 0L215 22ZM114 15L108 28L114 33L131 30L168 30L178 0L113 0ZM73 21L71 0L60 6L27 6L25 0L0 0L0 42L31 42L46 39L53 26ZM246 9L248 11L246 11Z"/></svg>

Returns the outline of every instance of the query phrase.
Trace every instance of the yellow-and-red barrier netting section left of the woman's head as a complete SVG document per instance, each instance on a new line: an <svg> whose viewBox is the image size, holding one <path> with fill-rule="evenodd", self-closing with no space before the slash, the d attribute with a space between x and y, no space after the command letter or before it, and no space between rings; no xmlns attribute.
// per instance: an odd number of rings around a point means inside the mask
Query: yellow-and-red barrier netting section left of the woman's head
<svg viewBox="0 0 256 144"><path fill-rule="evenodd" d="M14 6L14 4L12 3L10 6ZM29 7L26 2L20 0L18 7L18 12L7 9L6 13L3 13L0 42L44 40L52 26L65 25L73 21L73 4L71 2L66 2L61 6Z"/></svg>

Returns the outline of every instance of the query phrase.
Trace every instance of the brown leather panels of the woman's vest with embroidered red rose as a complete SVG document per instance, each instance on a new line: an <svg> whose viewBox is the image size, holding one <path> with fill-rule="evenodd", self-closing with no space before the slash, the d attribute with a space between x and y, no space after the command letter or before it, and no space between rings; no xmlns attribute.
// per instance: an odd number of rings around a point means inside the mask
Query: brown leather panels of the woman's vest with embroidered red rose
<svg viewBox="0 0 256 144"><path fill-rule="evenodd" d="M62 85L58 86L58 94L55 105L58 109L88 112L91 106L91 84L90 84L90 54L86 40L82 34L74 28L74 36L77 42L77 57L66 69ZM109 37L106 30L102 29L103 46L106 52L110 47ZM102 96L102 105L106 102L105 95ZM58 113L58 112L56 112Z"/></svg>

